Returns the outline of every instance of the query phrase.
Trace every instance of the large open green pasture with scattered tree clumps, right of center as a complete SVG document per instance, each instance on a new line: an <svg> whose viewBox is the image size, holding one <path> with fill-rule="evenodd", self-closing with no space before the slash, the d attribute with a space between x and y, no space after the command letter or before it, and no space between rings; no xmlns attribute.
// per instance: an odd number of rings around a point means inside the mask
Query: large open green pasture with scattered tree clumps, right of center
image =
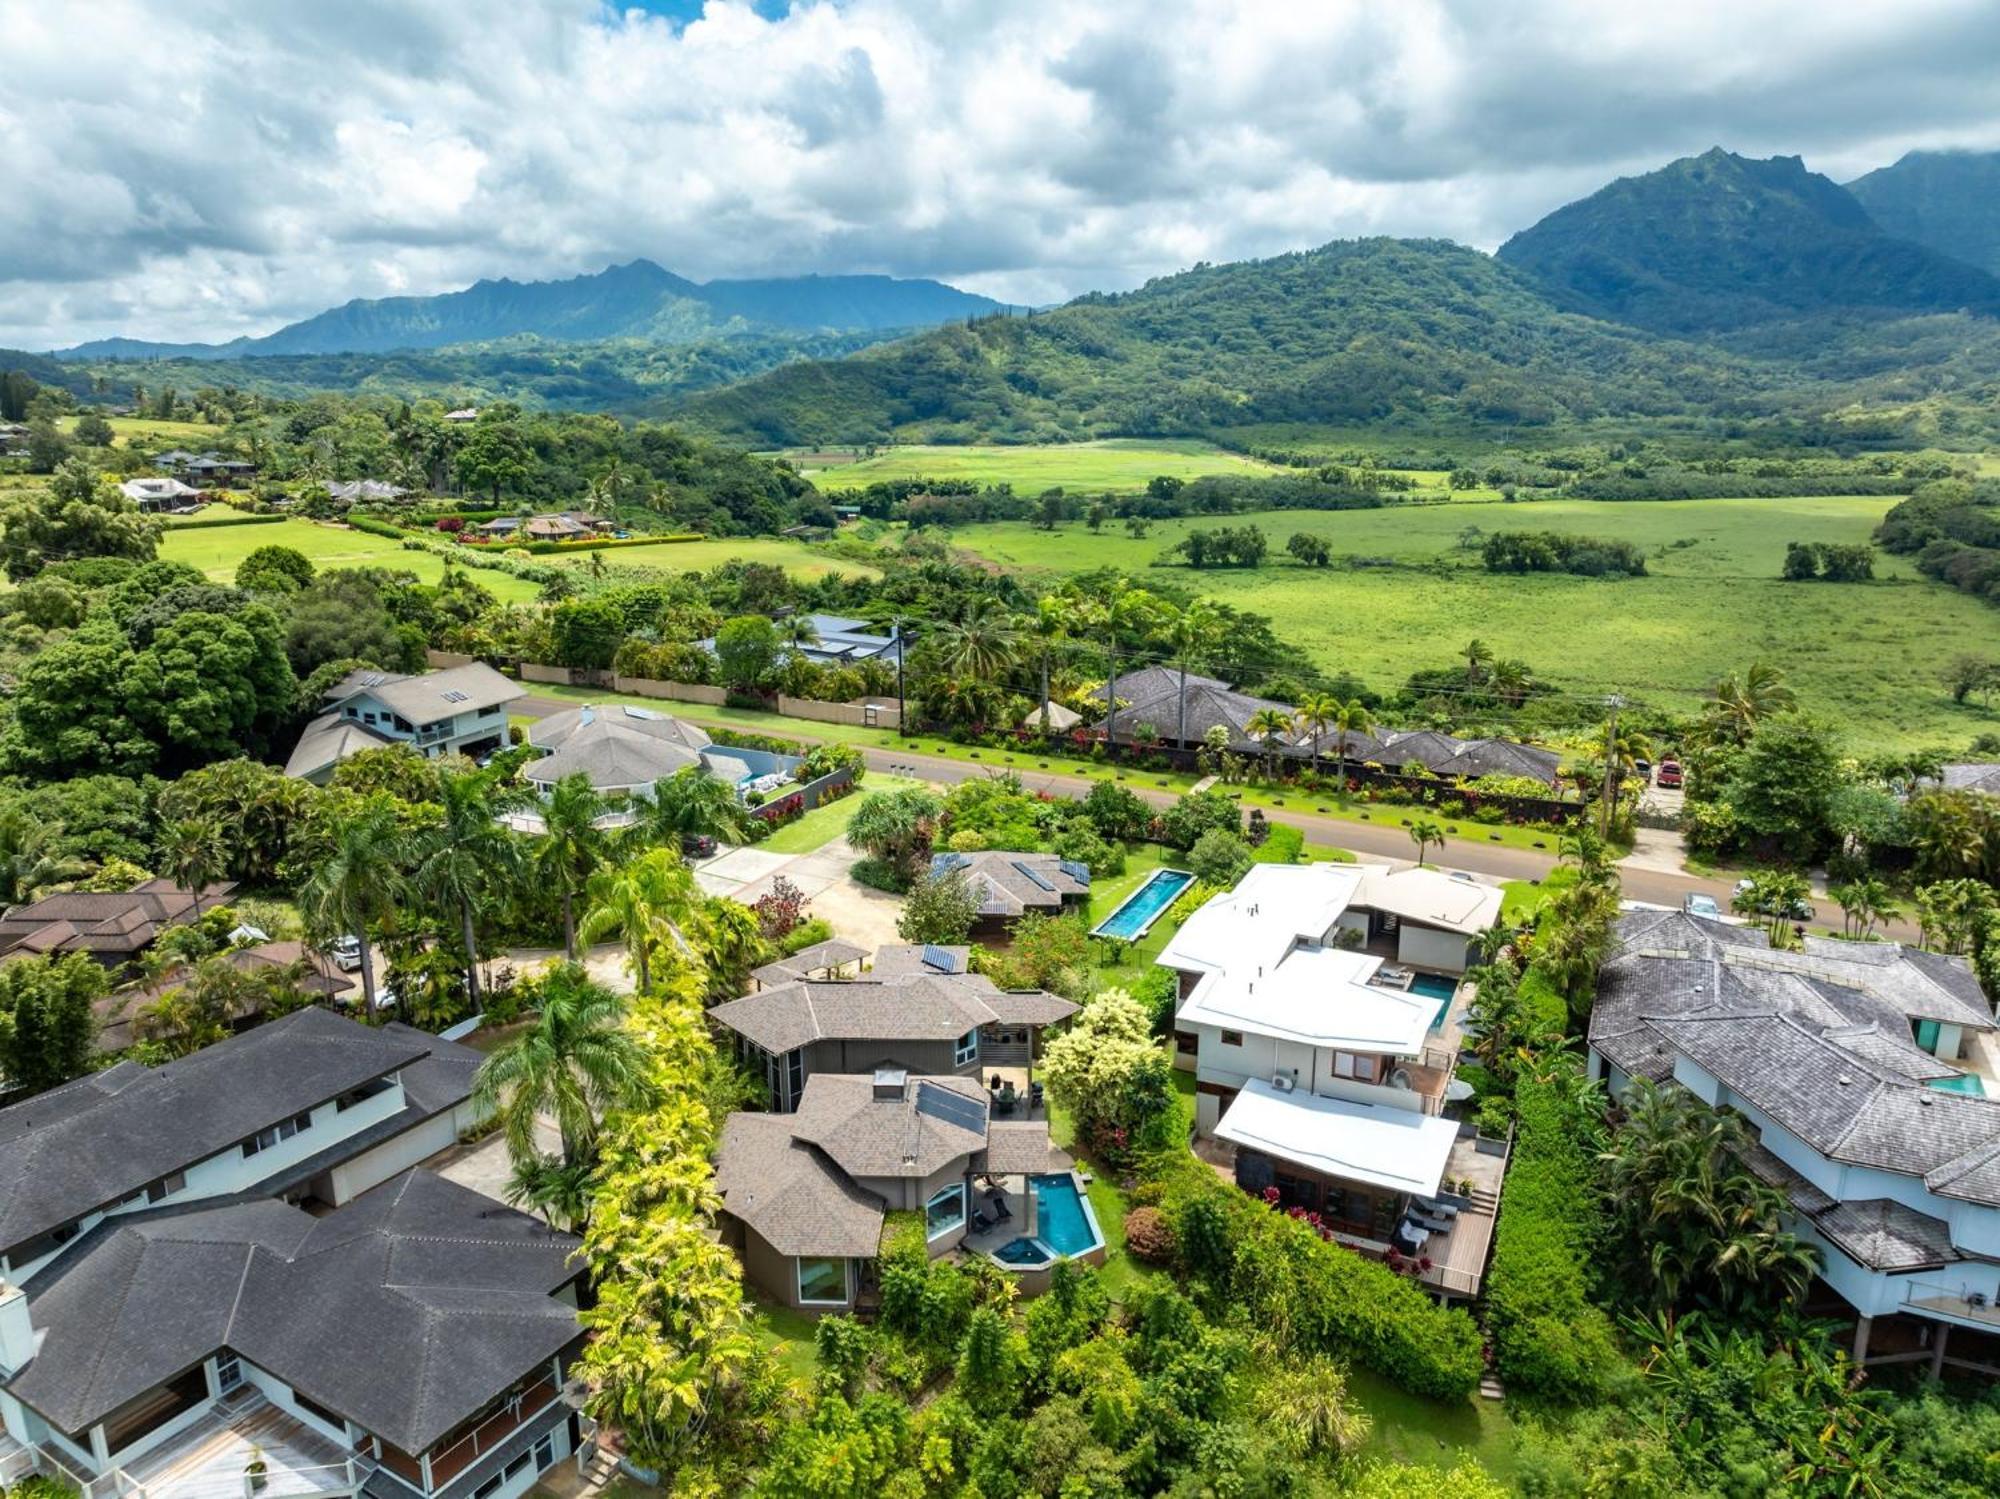
<svg viewBox="0 0 2000 1499"><path fill-rule="evenodd" d="M1600 504L1452 504L1358 512L1284 512L1252 520L1278 560L1254 572L1160 570L1228 604L1268 614L1324 670L1352 670L1378 688L1448 664L1474 636L1526 660L1580 694L1622 690L1680 708L1726 672L1768 660L1806 708L1866 730L1870 750L1958 748L2000 714L1956 708L1938 686L1958 654L1992 656L2000 618L1932 584L1902 558L1876 556L1870 584L1778 580L1786 542L1866 542L1894 500L1686 500ZM958 546L1014 568L1070 572L1116 564L1144 572L1192 526L1164 522L1144 540L1072 524L968 526ZM1486 574L1466 528L1558 530L1620 538L1646 550L1648 576L1594 580ZM1282 558L1294 532L1326 538L1326 570ZM1476 542L1474 542L1476 544Z"/></svg>

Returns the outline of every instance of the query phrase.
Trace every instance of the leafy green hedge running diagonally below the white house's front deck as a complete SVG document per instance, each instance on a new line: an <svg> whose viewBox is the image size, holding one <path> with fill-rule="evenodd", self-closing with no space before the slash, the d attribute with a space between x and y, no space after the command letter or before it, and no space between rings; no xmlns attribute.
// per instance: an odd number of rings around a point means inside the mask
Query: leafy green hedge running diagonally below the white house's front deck
<svg viewBox="0 0 2000 1499"><path fill-rule="evenodd" d="M1418 1281L1322 1239L1186 1149L1166 1151L1148 1175L1144 1195L1160 1195L1182 1273L1204 1275L1252 1327L1352 1357L1412 1395L1464 1399L1478 1387L1480 1329L1462 1307L1436 1305ZM1226 1263L1202 1265L1216 1247Z"/></svg>

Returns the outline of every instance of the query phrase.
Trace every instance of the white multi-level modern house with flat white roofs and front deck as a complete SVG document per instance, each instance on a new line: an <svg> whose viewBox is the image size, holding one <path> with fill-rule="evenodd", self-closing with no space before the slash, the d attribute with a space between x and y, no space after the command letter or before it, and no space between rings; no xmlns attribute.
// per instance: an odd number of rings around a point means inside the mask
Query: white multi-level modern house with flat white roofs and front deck
<svg viewBox="0 0 2000 1499"><path fill-rule="evenodd" d="M1458 979L1498 915L1496 887L1434 869L1260 863L1156 959L1202 1153L1448 1295L1478 1289L1504 1171L1444 1117Z"/></svg>

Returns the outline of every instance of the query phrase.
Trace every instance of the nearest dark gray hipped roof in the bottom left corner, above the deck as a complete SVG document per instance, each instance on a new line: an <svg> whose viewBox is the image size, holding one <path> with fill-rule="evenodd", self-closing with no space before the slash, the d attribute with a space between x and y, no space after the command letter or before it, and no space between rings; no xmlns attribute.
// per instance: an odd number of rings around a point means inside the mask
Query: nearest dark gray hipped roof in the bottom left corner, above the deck
<svg viewBox="0 0 2000 1499"><path fill-rule="evenodd" d="M324 1219L280 1201L106 1223L30 1301L14 1395L82 1429L234 1349L420 1453L578 1337L578 1241L428 1171Z"/></svg>

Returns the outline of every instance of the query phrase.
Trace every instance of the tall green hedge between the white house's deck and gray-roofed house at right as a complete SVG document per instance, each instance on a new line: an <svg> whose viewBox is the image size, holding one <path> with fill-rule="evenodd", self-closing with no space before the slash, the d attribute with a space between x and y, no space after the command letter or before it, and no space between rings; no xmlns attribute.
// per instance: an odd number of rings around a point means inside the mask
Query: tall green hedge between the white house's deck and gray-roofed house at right
<svg viewBox="0 0 2000 1499"><path fill-rule="evenodd" d="M1606 1217L1590 1121L1570 1083L1522 1077L1514 1085L1514 1159L1486 1273L1500 1377L1512 1391L1550 1401L1592 1399L1618 1359L1610 1317L1590 1301Z"/></svg>

